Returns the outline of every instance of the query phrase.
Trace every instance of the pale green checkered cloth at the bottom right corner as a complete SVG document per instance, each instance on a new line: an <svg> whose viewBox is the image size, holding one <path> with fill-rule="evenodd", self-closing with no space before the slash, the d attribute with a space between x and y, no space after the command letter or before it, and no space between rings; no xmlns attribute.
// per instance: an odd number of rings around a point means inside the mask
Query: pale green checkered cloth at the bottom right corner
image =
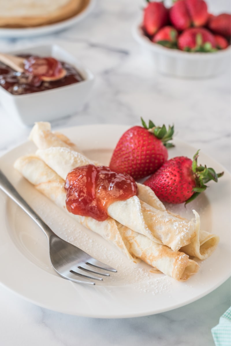
<svg viewBox="0 0 231 346"><path fill-rule="evenodd" d="M225 311L219 324L211 331L216 346L231 346L231 307Z"/></svg>

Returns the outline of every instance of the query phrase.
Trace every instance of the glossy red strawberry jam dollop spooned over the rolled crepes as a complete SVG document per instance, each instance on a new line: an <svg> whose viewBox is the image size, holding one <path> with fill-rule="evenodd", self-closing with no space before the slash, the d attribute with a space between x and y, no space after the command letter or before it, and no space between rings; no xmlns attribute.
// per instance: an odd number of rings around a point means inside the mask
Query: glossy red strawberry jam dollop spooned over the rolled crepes
<svg viewBox="0 0 231 346"><path fill-rule="evenodd" d="M65 190L69 212L104 221L108 217L109 205L136 195L137 185L128 174L90 164L74 168L68 173Z"/></svg>

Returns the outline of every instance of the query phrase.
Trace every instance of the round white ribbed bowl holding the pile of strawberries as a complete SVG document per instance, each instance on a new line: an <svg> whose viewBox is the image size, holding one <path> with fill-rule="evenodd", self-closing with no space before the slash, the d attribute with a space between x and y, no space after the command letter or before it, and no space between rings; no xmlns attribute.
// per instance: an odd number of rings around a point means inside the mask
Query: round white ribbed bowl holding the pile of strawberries
<svg viewBox="0 0 231 346"><path fill-rule="evenodd" d="M219 75L230 65L230 46L212 53L190 53L153 43L135 25L132 34L143 48L154 69L162 74L179 78L208 78Z"/></svg>

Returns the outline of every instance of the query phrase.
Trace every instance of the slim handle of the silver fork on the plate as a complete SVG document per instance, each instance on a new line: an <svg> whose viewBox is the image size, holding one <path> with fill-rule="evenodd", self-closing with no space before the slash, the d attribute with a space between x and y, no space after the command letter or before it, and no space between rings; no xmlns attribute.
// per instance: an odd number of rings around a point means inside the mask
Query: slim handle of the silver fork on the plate
<svg viewBox="0 0 231 346"><path fill-rule="evenodd" d="M5 174L0 170L0 189L5 192L15 203L18 204L35 222L36 224L44 231L47 236L47 239L51 235L54 235L54 232L50 227L45 224L40 216L29 206L23 197L18 193L14 186L9 182Z"/></svg>

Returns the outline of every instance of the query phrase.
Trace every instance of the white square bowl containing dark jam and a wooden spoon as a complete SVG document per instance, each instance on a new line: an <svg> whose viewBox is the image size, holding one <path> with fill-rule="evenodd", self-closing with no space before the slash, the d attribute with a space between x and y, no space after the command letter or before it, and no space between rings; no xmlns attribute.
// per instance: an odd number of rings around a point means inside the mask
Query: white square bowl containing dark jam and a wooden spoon
<svg viewBox="0 0 231 346"><path fill-rule="evenodd" d="M94 75L73 55L57 45L34 46L9 53L52 56L74 66L83 81L25 95L13 95L0 86L0 102L8 113L25 125L32 126L36 121L52 121L73 115L83 106L94 82Z"/></svg>

